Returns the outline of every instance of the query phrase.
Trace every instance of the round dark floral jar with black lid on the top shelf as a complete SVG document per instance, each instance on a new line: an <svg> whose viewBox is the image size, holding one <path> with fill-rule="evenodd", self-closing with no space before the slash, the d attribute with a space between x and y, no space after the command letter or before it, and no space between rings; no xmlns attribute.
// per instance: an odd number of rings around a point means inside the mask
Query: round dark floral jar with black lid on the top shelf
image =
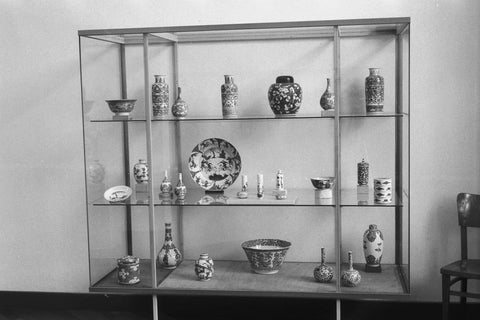
<svg viewBox="0 0 480 320"><path fill-rule="evenodd" d="M275 115L294 115L302 104L302 88L292 76L279 76L268 89L268 102Z"/></svg>

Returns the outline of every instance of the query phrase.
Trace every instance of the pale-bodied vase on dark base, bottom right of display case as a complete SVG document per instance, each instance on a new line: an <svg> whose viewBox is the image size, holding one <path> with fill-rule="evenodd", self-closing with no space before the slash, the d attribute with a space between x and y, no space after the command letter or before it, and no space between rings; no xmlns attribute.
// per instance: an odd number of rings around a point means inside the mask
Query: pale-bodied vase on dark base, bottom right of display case
<svg viewBox="0 0 480 320"><path fill-rule="evenodd" d="M383 255L383 234L375 224L371 224L363 234L363 254L366 272L382 271L380 262Z"/></svg>

